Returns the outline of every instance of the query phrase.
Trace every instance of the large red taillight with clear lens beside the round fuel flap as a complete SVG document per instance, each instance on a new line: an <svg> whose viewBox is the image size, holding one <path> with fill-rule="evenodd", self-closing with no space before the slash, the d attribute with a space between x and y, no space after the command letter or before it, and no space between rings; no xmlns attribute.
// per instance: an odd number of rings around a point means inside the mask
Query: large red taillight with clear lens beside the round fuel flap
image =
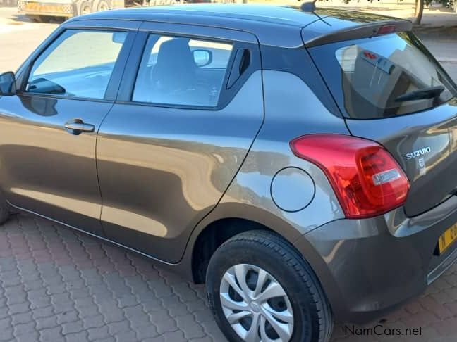
<svg viewBox="0 0 457 342"><path fill-rule="evenodd" d="M346 217L372 217L406 201L409 182L396 160L373 141L339 134L310 134L291 141L295 156L327 175Z"/></svg>

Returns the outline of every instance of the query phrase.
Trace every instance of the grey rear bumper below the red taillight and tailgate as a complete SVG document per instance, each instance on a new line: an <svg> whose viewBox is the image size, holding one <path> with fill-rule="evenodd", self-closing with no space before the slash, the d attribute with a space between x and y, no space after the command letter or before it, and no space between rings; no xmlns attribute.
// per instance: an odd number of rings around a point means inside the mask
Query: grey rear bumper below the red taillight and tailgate
<svg viewBox="0 0 457 342"><path fill-rule="evenodd" d="M457 243L437 255L457 222L457 196L417 217L403 208L365 220L336 220L295 244L322 283L337 321L364 323L422 293L457 259Z"/></svg>

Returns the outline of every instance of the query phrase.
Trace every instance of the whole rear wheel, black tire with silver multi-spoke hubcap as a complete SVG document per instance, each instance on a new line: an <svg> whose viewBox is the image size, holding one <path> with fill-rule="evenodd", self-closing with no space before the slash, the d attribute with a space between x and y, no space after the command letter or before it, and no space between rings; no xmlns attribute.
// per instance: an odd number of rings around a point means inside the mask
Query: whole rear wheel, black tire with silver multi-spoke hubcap
<svg viewBox="0 0 457 342"><path fill-rule="evenodd" d="M333 320L310 266L280 236L238 234L207 270L207 295L229 341L327 342Z"/></svg>

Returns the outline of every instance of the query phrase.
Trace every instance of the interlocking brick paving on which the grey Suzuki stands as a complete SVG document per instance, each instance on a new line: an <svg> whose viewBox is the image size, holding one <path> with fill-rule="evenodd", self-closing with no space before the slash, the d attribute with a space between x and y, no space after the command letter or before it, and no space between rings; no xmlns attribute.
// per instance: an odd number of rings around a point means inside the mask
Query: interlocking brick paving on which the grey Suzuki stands
<svg viewBox="0 0 457 342"><path fill-rule="evenodd" d="M422 327L422 335L358 336L340 324L334 342L457 341L457 267L384 319L377 332ZM203 286L59 224L16 215L0 226L0 341L225 339Z"/></svg>

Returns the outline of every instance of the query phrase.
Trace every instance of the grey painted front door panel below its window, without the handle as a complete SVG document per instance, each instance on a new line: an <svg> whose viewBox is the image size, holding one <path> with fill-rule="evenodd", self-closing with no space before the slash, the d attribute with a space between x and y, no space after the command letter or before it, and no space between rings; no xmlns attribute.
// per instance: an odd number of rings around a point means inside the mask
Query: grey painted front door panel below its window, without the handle
<svg viewBox="0 0 457 342"><path fill-rule="evenodd" d="M20 208L102 234L97 134L68 134L64 124L80 118L99 127L111 103L19 95L3 97L0 106L4 196Z"/></svg>

